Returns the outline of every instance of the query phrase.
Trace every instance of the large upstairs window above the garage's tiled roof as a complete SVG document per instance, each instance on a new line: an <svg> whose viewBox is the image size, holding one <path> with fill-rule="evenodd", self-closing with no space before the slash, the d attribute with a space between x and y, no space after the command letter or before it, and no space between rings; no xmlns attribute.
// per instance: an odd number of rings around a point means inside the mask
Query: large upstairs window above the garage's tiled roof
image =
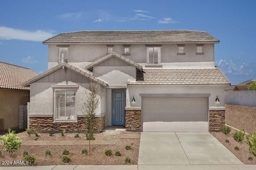
<svg viewBox="0 0 256 170"><path fill-rule="evenodd" d="M161 63L161 48L160 47L148 47L147 48L147 63L148 64L160 64Z"/></svg>

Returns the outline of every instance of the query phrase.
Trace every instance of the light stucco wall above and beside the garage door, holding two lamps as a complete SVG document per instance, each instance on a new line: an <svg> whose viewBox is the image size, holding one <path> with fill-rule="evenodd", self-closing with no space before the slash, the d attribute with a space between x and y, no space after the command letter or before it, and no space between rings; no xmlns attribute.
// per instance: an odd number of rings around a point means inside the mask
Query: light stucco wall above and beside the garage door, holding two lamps
<svg viewBox="0 0 256 170"><path fill-rule="evenodd" d="M140 94L211 94L209 107L224 107L226 85L128 85L126 107L141 107ZM215 102L216 96L220 102ZM131 102L132 97L136 102Z"/></svg>

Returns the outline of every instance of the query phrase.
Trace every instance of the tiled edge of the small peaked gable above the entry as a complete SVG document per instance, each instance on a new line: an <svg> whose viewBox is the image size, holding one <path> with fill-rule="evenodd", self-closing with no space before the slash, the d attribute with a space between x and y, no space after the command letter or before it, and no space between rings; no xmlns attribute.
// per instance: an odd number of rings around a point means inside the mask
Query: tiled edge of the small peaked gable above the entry
<svg viewBox="0 0 256 170"><path fill-rule="evenodd" d="M130 59L118 54L118 53L109 53L108 55L105 55L104 57L94 61L93 63L89 64L88 66L86 66L86 69L90 69L108 59L110 59L111 57L116 57L117 59L120 59L121 61L124 61L125 63L128 63L136 68L138 68L140 71L142 71L142 66L140 66L139 64L135 63L134 61L131 61Z"/></svg>

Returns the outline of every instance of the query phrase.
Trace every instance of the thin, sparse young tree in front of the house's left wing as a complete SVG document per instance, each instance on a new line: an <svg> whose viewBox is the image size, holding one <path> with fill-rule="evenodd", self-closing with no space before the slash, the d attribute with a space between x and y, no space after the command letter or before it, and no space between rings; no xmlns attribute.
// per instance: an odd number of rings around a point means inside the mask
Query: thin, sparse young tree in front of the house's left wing
<svg viewBox="0 0 256 170"><path fill-rule="evenodd" d="M91 82L90 92L87 94L87 100L84 103L84 121L87 125L88 132L86 133L86 140L89 141L89 152L91 149L91 140L94 138L94 125L95 125L95 113L98 105L100 104L100 95L101 88L97 83Z"/></svg>

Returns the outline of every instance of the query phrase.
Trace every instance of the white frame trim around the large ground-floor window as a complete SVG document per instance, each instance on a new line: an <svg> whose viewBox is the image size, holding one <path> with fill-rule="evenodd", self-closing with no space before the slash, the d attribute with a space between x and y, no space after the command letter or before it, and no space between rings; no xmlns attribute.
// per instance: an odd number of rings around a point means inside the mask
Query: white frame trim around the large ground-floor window
<svg viewBox="0 0 256 170"><path fill-rule="evenodd" d="M56 119L56 91L65 90L65 104L66 104L66 90L75 90L75 117L76 119ZM76 114L76 98L77 98L77 88L54 88L54 99L53 99L53 122L77 122ZM65 109L66 112L66 109ZM66 115L66 114L65 114Z"/></svg>

